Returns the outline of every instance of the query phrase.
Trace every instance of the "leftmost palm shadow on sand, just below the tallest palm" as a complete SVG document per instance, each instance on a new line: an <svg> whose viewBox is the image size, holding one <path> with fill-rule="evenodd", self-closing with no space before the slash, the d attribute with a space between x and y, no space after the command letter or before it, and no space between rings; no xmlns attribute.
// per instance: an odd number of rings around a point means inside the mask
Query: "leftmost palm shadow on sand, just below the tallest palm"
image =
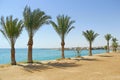
<svg viewBox="0 0 120 80"><path fill-rule="evenodd" d="M33 64L17 64L18 66L21 66L23 67L23 69L27 72L31 72L33 73L34 71L42 71L42 70L46 70L46 69L52 69L50 68L49 66L47 65L44 65L42 63L39 63L39 62L35 62Z"/></svg>

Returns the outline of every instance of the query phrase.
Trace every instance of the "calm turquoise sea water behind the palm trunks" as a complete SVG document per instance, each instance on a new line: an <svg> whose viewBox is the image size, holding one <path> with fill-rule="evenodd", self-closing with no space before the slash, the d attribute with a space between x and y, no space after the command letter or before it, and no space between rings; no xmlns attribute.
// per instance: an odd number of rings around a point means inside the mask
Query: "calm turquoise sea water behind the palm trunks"
<svg viewBox="0 0 120 80"><path fill-rule="evenodd" d="M93 50L93 54L104 53L105 50ZM75 57L76 52L73 50L66 50L65 57ZM82 50L81 56L88 55L88 50ZM50 50L50 49L33 49L33 60L43 61L43 60L55 60L61 57L60 50ZM0 64L10 63L10 49L0 49ZM16 61L23 62L27 61L27 49L16 49Z"/></svg>

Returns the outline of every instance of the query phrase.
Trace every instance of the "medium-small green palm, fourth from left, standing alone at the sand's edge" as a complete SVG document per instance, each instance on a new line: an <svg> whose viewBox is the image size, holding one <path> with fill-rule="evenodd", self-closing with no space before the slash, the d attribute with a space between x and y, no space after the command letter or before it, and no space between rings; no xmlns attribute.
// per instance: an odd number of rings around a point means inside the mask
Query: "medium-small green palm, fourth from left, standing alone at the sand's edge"
<svg viewBox="0 0 120 80"><path fill-rule="evenodd" d="M92 56L92 42L99 34L95 33L92 30L87 30L85 32L83 31L83 35L86 38L86 40L89 42L89 56Z"/></svg>

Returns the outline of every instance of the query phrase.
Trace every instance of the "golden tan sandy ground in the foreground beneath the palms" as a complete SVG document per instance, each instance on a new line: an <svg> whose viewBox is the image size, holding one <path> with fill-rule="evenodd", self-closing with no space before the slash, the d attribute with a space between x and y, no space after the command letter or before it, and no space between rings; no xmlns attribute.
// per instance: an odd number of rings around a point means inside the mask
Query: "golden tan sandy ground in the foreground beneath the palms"
<svg viewBox="0 0 120 80"><path fill-rule="evenodd" d="M120 53L72 60L1 65L0 80L120 80Z"/></svg>

